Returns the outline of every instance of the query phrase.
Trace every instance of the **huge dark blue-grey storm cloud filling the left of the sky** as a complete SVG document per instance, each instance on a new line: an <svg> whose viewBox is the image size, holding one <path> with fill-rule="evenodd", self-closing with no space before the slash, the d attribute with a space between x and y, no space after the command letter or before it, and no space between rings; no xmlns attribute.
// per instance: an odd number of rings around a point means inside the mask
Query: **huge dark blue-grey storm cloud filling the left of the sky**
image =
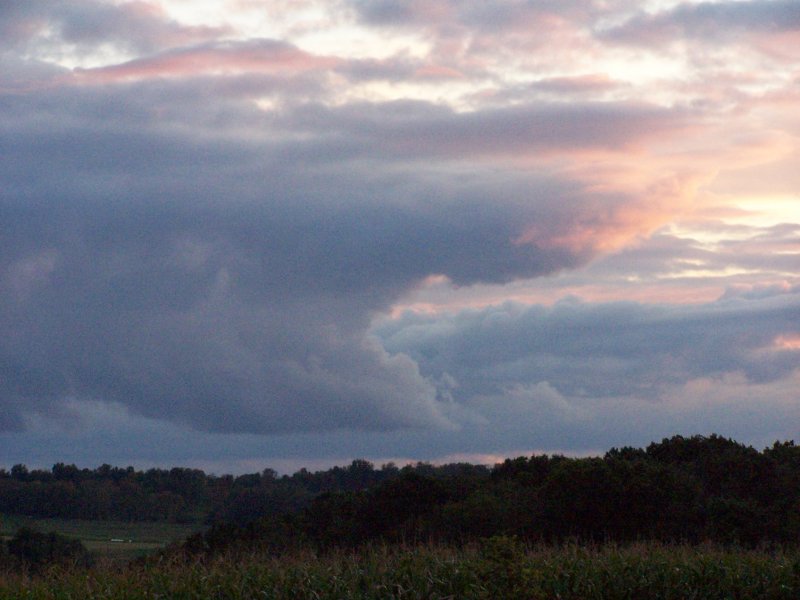
<svg viewBox="0 0 800 600"><path fill-rule="evenodd" d="M319 143L232 141L270 118L231 101L209 126L214 108L179 89L184 130L155 117L172 91L0 99L5 428L67 399L209 431L448 427L441 390L370 338L373 316L430 274L505 282L588 256L514 241L565 227L577 182L376 162L378 139L406 135L377 107L295 126ZM331 130L362 141L342 155Z"/></svg>

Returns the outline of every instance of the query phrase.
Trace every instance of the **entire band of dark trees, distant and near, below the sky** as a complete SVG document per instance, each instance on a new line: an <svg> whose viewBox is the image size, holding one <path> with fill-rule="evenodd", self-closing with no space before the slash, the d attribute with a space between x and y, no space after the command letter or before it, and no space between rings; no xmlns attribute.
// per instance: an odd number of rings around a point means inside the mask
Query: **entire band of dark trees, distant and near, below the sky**
<svg viewBox="0 0 800 600"><path fill-rule="evenodd" d="M40 517L203 521L189 553L281 551L369 542L800 541L800 447L758 451L724 437L675 436L603 457L536 455L469 464L347 467L211 476L103 465L0 470L0 512Z"/></svg>

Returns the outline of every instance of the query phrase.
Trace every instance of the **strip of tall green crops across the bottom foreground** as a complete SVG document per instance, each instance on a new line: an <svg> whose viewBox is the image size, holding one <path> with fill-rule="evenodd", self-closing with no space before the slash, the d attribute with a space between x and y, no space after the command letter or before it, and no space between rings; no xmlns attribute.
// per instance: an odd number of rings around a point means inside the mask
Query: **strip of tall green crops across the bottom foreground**
<svg viewBox="0 0 800 600"><path fill-rule="evenodd" d="M635 545L374 547L0 577L0 598L796 599L800 553Z"/></svg>

